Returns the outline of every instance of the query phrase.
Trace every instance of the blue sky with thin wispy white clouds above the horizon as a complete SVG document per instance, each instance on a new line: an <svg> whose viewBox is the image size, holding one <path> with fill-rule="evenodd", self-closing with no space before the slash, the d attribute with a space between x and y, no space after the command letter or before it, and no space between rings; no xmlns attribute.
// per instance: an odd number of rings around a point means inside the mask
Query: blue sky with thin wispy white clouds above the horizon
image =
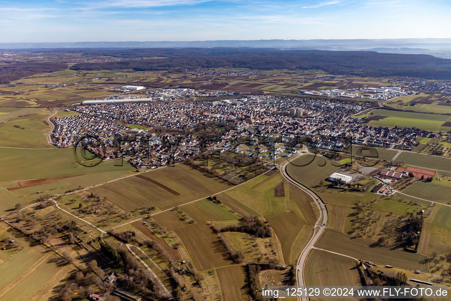
<svg viewBox="0 0 451 301"><path fill-rule="evenodd" d="M0 42L451 37L449 0L0 0Z"/></svg>

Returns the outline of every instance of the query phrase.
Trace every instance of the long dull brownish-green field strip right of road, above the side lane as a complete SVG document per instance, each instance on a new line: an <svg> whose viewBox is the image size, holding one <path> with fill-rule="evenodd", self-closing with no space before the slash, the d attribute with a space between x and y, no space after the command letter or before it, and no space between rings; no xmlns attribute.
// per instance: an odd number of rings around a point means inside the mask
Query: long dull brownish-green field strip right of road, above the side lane
<svg viewBox="0 0 451 301"><path fill-rule="evenodd" d="M315 244L317 248L410 270L427 270L426 256L392 249L353 236L326 229ZM420 263L421 262L421 263Z"/></svg>

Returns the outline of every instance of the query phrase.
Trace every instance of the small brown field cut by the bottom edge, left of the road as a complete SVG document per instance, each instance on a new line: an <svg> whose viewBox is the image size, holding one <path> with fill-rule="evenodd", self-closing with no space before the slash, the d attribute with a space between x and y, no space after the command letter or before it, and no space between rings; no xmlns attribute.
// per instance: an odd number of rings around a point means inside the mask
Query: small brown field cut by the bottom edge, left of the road
<svg viewBox="0 0 451 301"><path fill-rule="evenodd" d="M246 301L249 300L246 282L246 267L234 265L231 267L217 269L221 293L224 301Z"/></svg>

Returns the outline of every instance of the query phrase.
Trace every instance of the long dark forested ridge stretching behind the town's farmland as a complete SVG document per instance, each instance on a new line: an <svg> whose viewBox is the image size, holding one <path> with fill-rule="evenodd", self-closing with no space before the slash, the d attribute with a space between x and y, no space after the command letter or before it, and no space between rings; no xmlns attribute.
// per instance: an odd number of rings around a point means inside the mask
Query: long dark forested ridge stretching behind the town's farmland
<svg viewBox="0 0 451 301"><path fill-rule="evenodd" d="M134 69L137 71L197 68L321 69L331 74L357 76L409 76L423 79L451 79L451 60L430 55L392 54L375 51L320 51L272 48L153 48L84 50L85 55L138 58L163 56L157 60L124 60L79 63L72 69Z"/></svg>

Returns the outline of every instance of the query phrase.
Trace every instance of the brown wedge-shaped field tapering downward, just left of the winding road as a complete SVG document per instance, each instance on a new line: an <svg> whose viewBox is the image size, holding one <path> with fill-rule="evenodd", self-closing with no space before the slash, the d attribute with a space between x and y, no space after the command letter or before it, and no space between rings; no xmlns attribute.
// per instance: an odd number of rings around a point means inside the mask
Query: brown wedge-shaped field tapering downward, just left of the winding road
<svg viewBox="0 0 451 301"><path fill-rule="evenodd" d="M281 242L285 263L290 262L290 253L293 242L304 227L304 223L293 211L275 213L265 216Z"/></svg>

